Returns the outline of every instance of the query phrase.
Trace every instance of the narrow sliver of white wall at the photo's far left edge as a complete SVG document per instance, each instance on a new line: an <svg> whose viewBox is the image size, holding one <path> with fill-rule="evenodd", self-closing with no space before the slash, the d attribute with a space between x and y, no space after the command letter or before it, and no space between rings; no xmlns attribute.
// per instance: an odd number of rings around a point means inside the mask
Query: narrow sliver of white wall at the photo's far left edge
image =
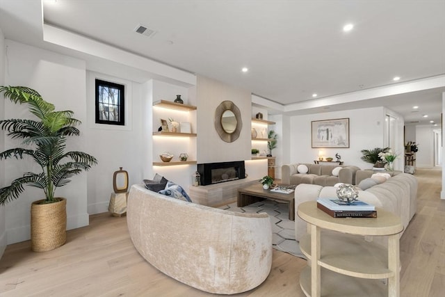
<svg viewBox="0 0 445 297"><path fill-rule="evenodd" d="M3 86L5 82L5 38L3 32L0 29L0 86ZM3 95L0 98L0 120L5 118L4 112L4 99ZM3 152L5 148L5 134L3 130L0 131L0 152ZM5 184L5 166L0 166L0 187ZM0 259L6 248L6 215L5 207L0 206Z"/></svg>

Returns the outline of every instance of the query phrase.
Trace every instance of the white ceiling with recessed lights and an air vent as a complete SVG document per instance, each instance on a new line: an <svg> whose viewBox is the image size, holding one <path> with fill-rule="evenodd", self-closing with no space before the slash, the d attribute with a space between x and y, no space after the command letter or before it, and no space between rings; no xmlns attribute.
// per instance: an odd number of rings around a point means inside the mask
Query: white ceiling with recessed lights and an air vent
<svg viewBox="0 0 445 297"><path fill-rule="evenodd" d="M9 14L11 7L29 9L30 2L38 7L36 0L0 0L0 26L6 38L24 39L26 29L19 27L30 23L30 15ZM250 90L284 106L314 100L313 93L323 98L389 86L396 83L395 76L405 83L445 74L445 0L43 3L46 24ZM33 14L37 17L40 11ZM40 26L41 22L40 15ZM345 33L347 23L355 27ZM156 33L135 33L138 24ZM40 38L33 34L26 43ZM249 71L243 73L241 67ZM442 92L445 87L366 100L360 106L387 106L403 114L407 124L437 122ZM412 105L420 106L419 111L412 113ZM318 112L339 108L345 106ZM428 121L423 114L429 115Z"/></svg>

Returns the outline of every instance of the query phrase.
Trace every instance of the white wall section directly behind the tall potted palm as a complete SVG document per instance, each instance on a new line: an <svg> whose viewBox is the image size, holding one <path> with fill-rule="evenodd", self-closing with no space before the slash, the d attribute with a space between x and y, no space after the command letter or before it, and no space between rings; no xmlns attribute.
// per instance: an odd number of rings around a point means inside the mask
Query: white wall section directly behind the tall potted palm
<svg viewBox="0 0 445 297"><path fill-rule="evenodd" d="M13 86L29 86L38 90L47 101L54 103L57 110L72 110L75 118L81 120L81 136L70 138L68 150L90 152L86 138L86 65L76 58L63 56L51 51L30 47L19 42L6 40L5 83ZM27 106L5 102L8 118L29 118ZM16 147L19 141L6 138L5 147ZM35 171L31 161L4 161L8 175L5 183L21 176L23 172ZM2 164L2 165L3 165ZM67 198L67 229L88 225L87 173L72 179L67 186L58 188L57 196ZM29 239L31 202L43 198L37 188L26 187L19 199L6 205L6 232L8 244Z"/></svg>

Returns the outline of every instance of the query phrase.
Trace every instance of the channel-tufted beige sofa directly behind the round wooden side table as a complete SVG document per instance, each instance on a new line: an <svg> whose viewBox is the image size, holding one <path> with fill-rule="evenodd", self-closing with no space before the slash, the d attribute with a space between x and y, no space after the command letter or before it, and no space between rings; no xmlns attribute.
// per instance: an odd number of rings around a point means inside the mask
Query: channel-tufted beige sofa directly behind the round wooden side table
<svg viewBox="0 0 445 297"><path fill-rule="evenodd" d="M362 179L371 177L373 171L359 170L357 171L357 184ZM376 184L367 188L365 191L359 191L359 200L375 205L375 207L383 208L391 211L401 217L404 230L410 223L410 220L416 213L416 197L417 197L417 179L413 175L407 173L391 173L394 175L382 184ZM300 184L296 187L295 207L296 214L298 205L306 201L316 201L317 198L336 198L337 188L334 186L318 186L315 184ZM301 218L296 217L295 220L296 240L300 241L302 236L307 234L307 224ZM402 236L403 232L401 232ZM382 242L383 243L383 242Z"/></svg>

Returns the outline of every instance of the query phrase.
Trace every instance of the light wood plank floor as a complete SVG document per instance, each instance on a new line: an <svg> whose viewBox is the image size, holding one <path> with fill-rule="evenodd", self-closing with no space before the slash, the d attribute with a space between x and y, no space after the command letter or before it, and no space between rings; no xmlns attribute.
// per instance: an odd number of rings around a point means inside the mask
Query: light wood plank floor
<svg viewBox="0 0 445 297"><path fill-rule="evenodd" d="M415 176L417 214L401 238L401 296L444 296L441 171L417 170ZM181 284L145 262L133 248L125 217L94 215L90 226L67 233L67 243L49 252L31 252L29 241L8 246L0 259L0 296L216 296ZM235 296L304 296L298 278L305 265L305 260L274 250L267 280Z"/></svg>

